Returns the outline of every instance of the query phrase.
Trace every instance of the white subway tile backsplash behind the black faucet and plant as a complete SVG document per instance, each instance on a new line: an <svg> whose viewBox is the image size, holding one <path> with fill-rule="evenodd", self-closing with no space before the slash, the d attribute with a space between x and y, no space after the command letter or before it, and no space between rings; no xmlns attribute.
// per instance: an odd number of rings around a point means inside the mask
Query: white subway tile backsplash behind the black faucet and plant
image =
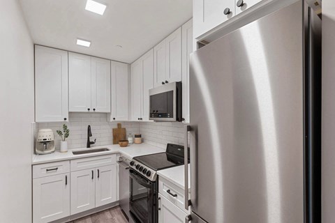
<svg viewBox="0 0 335 223"><path fill-rule="evenodd" d="M109 115L108 115L108 118ZM137 122L109 122L107 121L107 114L89 114L89 113L70 113L68 117L68 128L70 129L70 137L68 141L68 148L85 148L87 144L87 125L91 125L92 137L91 141L96 139L96 144L93 146L103 146L113 144L113 128L117 128L117 123L121 123L122 128L126 128L128 134L140 133L140 124ZM63 130L64 122L60 123L38 123L38 130L43 128L50 128L54 131L56 149L60 148L60 137L56 130Z"/></svg>

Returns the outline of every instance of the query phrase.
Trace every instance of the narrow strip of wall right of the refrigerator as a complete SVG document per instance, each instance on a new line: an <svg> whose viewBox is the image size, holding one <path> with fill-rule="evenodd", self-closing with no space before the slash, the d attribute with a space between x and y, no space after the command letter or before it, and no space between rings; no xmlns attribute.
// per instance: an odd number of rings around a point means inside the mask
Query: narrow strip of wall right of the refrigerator
<svg viewBox="0 0 335 223"><path fill-rule="evenodd" d="M322 222L335 220L335 1L322 1Z"/></svg>

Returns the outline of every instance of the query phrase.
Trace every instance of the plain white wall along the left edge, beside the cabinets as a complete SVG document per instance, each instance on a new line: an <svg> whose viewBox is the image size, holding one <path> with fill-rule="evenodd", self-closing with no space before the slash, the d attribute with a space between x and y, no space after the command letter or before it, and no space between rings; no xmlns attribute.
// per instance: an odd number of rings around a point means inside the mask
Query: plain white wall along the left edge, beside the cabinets
<svg viewBox="0 0 335 223"><path fill-rule="evenodd" d="M0 222L31 222L34 45L16 0L0 0Z"/></svg>

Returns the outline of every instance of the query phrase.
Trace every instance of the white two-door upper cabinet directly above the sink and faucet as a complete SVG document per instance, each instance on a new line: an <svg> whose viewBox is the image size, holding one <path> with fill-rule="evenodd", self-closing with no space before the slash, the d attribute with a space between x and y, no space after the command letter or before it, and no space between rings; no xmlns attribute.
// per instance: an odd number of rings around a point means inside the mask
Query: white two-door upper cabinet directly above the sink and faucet
<svg viewBox="0 0 335 223"><path fill-rule="evenodd" d="M68 53L69 112L110 113L110 61Z"/></svg>

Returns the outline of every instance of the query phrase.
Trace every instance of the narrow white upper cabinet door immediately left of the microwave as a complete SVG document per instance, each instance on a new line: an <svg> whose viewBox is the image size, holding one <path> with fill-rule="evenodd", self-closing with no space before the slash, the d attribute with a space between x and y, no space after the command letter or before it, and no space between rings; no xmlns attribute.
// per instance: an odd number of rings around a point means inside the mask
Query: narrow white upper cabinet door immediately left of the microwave
<svg viewBox="0 0 335 223"><path fill-rule="evenodd" d="M149 121L149 89L154 88L154 50L142 56L143 64L143 121Z"/></svg>

